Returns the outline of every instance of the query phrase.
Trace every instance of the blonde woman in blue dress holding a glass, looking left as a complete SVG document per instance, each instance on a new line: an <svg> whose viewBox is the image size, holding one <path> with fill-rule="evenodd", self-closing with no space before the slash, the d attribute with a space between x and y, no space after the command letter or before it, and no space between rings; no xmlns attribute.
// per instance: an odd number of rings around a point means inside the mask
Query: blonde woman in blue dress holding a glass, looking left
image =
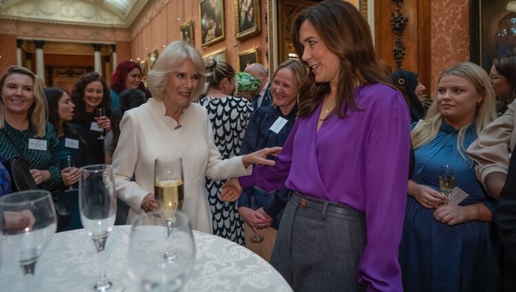
<svg viewBox="0 0 516 292"><path fill-rule="evenodd" d="M499 291L499 242L492 199L475 177L466 148L495 118L486 72L460 63L438 79L435 102L411 131L416 167L408 181L400 244L405 291ZM439 192L443 166L469 196L446 204Z"/></svg>

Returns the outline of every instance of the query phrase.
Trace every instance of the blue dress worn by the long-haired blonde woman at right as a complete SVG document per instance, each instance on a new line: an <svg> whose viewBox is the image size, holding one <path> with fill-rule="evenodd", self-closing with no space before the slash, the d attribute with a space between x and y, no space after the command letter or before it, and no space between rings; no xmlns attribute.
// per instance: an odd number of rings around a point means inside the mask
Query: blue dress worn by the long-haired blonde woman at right
<svg viewBox="0 0 516 292"><path fill-rule="evenodd" d="M475 126L465 133L464 149L475 140ZM469 196L460 205L484 203L493 212L489 197L475 177L473 161L457 150L458 131L442 124L438 135L414 151L412 180L439 190L440 167L451 165L455 185ZM468 221L448 226L433 218L435 209L422 207L407 196L400 265L405 291L498 292L500 291L500 244L495 225Z"/></svg>

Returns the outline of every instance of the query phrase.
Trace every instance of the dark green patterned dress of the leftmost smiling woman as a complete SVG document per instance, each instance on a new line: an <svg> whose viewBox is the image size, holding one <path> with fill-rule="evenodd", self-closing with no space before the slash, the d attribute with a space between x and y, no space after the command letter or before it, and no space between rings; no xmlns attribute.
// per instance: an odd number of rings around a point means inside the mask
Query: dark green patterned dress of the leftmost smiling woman
<svg viewBox="0 0 516 292"><path fill-rule="evenodd" d="M45 149L30 148L30 139L45 140ZM58 139L54 127L49 122L45 123L45 136L36 137L32 128L25 131L19 131L4 122L3 128L0 130L0 153L6 159L14 156L23 157L29 164L31 169L48 170L50 172L50 181L38 185L42 190L55 190L61 183L61 170L56 159L56 147Z"/></svg>

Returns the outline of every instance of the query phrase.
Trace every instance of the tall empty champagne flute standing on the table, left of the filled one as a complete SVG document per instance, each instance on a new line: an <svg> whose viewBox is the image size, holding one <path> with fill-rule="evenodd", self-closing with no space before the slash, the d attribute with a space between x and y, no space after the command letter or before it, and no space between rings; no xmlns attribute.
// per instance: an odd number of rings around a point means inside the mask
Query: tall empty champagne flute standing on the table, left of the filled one
<svg viewBox="0 0 516 292"><path fill-rule="evenodd" d="M116 194L113 168L110 165L96 164L84 166L79 170L79 211L89 237L97 249L99 276L89 291L123 291L120 280L106 276L105 245L116 218Z"/></svg>

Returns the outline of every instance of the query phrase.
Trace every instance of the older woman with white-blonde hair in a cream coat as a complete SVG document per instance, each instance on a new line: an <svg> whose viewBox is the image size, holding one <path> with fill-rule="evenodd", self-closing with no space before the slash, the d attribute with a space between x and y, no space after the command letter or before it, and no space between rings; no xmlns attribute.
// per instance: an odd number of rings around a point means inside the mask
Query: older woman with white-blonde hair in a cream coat
<svg viewBox="0 0 516 292"><path fill-rule="evenodd" d="M153 195L155 157L182 157L182 210L193 229L209 233L212 226L205 177L239 177L251 172L250 164L274 164L265 157L280 148L221 159L206 109L192 103L202 92L204 81L205 68L199 52L186 43L173 42L149 72L147 84L153 98L127 111L122 118L113 165L118 197L131 207L128 223L141 212L158 209ZM131 181L133 175L135 181ZM237 197L222 199L234 201Z"/></svg>

